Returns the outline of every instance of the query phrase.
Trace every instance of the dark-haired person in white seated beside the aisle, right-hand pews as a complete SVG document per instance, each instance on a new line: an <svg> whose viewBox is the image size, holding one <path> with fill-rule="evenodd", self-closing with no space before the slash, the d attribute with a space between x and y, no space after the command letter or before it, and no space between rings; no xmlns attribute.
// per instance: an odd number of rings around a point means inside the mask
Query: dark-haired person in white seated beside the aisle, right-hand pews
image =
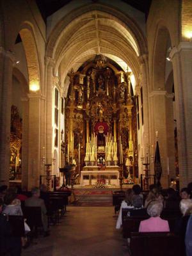
<svg viewBox="0 0 192 256"><path fill-rule="evenodd" d="M132 205L132 189L128 189L125 192L125 200L122 201L119 213L118 213L118 219L116 221L116 228L120 228L122 225L122 209L123 208L128 208L128 209L132 209L134 208L134 206Z"/></svg>

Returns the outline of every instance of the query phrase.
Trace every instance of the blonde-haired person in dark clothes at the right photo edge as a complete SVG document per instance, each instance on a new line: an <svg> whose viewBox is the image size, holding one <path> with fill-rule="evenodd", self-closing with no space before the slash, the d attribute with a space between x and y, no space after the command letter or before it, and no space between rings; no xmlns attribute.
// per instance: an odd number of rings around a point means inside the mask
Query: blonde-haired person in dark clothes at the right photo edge
<svg viewBox="0 0 192 256"><path fill-rule="evenodd" d="M180 212L182 213L182 217L179 218L175 222L175 234L180 236L181 246L182 246L182 255L186 255L186 247L185 247L185 237L186 237L186 228L188 225L189 217L192 213L192 200L191 199L182 199L180 201Z"/></svg>

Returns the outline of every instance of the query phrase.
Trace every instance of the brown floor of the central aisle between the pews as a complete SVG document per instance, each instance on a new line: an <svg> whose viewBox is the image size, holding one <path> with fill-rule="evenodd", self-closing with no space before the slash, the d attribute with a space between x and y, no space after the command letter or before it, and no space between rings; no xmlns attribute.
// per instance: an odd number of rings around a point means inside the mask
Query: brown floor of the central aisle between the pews
<svg viewBox="0 0 192 256"><path fill-rule="evenodd" d="M22 256L128 256L113 214L113 207L68 207L51 236L40 237Z"/></svg>

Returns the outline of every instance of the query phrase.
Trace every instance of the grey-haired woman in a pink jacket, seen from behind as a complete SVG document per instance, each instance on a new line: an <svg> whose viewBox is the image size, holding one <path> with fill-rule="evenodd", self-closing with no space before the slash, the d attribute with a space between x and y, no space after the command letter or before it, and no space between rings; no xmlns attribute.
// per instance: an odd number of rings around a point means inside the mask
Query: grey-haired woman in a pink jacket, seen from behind
<svg viewBox="0 0 192 256"><path fill-rule="evenodd" d="M170 232L168 221L160 218L162 211L163 204L156 201L151 202L147 207L150 218L140 222L139 232Z"/></svg>

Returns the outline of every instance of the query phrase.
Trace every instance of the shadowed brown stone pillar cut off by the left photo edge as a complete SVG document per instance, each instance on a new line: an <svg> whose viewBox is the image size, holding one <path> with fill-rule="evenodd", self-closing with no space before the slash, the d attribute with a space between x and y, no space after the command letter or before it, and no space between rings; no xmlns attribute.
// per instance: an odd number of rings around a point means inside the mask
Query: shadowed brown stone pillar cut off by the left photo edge
<svg viewBox="0 0 192 256"><path fill-rule="evenodd" d="M0 47L0 186L9 182L13 63L13 54Z"/></svg>

